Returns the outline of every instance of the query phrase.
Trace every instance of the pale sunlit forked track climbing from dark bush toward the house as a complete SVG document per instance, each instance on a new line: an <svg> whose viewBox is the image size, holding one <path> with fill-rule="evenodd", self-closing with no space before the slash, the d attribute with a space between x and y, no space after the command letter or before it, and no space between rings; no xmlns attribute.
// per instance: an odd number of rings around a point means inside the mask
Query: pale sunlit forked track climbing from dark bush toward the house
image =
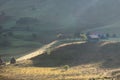
<svg viewBox="0 0 120 80"><path fill-rule="evenodd" d="M63 46L71 45L71 44L80 44L80 43L85 43L85 41L80 41L80 40L76 41L75 40L73 42L68 42L68 43L60 43L60 41L53 41L53 42L43 46L42 48L40 48L32 53L29 53L25 56L18 58L17 61L28 60L28 59L31 59L31 58L36 57L38 55L41 55L41 54L45 53L47 51L47 49L51 48L53 45L54 45L54 47L52 47L52 48L59 48L59 47L63 47Z"/></svg>

